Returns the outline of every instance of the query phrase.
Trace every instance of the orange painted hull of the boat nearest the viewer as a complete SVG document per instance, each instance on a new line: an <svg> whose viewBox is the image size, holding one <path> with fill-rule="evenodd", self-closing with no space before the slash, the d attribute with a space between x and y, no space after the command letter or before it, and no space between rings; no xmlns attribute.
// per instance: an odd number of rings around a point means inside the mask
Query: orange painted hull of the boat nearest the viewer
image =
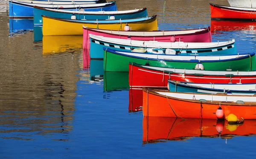
<svg viewBox="0 0 256 159"><path fill-rule="evenodd" d="M159 92L159 91L157 91ZM172 93L183 96L181 93ZM190 94L195 99L180 99L161 95L150 90L143 90L143 115L144 116L163 116L163 117L182 117L182 118L202 118L217 119L216 110L221 105L224 116L235 114L238 119L256 119L256 102L248 102L247 104L236 104L235 102L219 102L215 101L216 95L213 95L213 102L200 102L198 94ZM212 95L208 95L212 98ZM220 97L220 96L218 96ZM236 98L241 100L242 97L221 96L222 98ZM244 97L245 98L245 97ZM243 99L244 99L243 98ZM251 96L251 99L255 98ZM201 98L199 98L201 99Z"/></svg>

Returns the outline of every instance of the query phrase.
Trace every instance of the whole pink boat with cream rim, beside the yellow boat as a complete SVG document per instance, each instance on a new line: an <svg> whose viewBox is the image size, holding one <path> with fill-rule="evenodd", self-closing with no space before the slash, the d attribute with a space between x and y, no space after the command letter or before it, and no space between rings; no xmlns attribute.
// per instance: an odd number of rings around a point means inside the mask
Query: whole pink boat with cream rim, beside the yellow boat
<svg viewBox="0 0 256 159"><path fill-rule="evenodd" d="M159 42L210 43L212 35L210 27L177 31L113 31L83 27L83 48L90 49L89 34L131 40L155 40Z"/></svg>

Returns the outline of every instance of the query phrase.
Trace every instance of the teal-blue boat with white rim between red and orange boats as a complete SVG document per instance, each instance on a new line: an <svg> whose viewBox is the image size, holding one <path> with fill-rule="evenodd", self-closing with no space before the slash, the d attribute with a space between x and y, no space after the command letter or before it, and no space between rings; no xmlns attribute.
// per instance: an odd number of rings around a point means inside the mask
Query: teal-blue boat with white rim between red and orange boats
<svg viewBox="0 0 256 159"><path fill-rule="evenodd" d="M168 80L168 88L171 92L190 92L229 95L256 94L256 83L192 83Z"/></svg>

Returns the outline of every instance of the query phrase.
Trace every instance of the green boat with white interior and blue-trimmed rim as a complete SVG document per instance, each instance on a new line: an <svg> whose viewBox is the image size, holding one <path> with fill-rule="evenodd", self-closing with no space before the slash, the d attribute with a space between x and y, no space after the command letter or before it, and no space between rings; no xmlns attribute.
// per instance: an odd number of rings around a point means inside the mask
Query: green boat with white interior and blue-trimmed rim
<svg viewBox="0 0 256 159"><path fill-rule="evenodd" d="M232 55L171 55L116 51L103 48L104 71L129 71L129 62L167 68L204 69L209 71L252 71L255 53Z"/></svg>

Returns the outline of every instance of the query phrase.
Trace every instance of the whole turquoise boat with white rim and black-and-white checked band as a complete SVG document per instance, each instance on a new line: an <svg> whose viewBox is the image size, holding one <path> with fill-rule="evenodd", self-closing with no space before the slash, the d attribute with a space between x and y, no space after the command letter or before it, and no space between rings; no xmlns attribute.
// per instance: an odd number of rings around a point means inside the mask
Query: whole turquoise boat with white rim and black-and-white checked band
<svg viewBox="0 0 256 159"><path fill-rule="evenodd" d="M133 51L142 48L147 53L181 55L228 55L237 54L235 40L215 43L158 42L103 37L90 34L90 57L103 58L102 48L117 51Z"/></svg>

